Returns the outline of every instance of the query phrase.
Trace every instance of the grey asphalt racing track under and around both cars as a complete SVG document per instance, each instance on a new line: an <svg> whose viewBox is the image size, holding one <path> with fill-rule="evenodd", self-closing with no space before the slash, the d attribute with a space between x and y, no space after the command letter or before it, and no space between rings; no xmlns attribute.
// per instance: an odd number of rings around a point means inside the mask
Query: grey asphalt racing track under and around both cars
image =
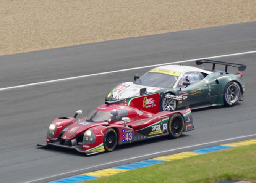
<svg viewBox="0 0 256 183"><path fill-rule="evenodd" d="M249 22L1 56L0 83L1 88L6 88L255 51L255 35L256 22ZM192 111L195 130L183 133L176 140L156 138L120 146L111 153L95 156L58 148L38 148L36 144L46 142L47 128L53 119L74 116L78 109L82 109L83 116L86 116L89 109L104 103L105 96L116 84L132 81L134 74L142 75L151 68L0 90L0 182L46 182L165 154L255 138L248 135L256 134L256 53L215 60L247 65L243 71L244 101L230 108ZM194 62L184 64L196 66ZM238 138L241 136L247 137ZM236 139L221 141L230 138ZM209 143L212 141L217 142ZM170 149L173 151L154 154Z"/></svg>

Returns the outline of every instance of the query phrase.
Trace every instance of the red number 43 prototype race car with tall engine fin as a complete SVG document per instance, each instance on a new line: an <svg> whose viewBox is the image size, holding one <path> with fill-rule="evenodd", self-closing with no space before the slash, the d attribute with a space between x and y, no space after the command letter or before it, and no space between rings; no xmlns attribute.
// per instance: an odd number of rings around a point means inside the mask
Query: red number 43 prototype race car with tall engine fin
<svg viewBox="0 0 256 183"><path fill-rule="evenodd" d="M180 111L161 111L162 98L183 103ZM194 130L188 96L165 96L151 93L119 101L106 102L87 117L60 117L50 124L46 144L76 149L88 155L111 152L117 145L169 135L178 138L183 132Z"/></svg>

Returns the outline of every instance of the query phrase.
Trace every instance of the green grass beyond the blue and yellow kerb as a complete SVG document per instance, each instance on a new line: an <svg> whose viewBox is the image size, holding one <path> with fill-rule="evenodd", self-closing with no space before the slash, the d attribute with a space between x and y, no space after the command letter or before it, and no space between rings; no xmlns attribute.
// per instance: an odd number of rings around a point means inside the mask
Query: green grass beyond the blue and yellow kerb
<svg viewBox="0 0 256 183"><path fill-rule="evenodd" d="M256 145L173 160L86 183L213 183L224 180L256 183Z"/></svg>

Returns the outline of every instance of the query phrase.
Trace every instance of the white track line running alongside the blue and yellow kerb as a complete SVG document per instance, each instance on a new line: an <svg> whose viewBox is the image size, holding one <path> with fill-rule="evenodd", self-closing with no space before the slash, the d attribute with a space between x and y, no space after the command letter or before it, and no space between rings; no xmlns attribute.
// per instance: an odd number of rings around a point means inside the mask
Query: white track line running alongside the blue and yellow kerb
<svg viewBox="0 0 256 183"><path fill-rule="evenodd" d="M256 134L246 135L246 136L239 136L239 137L235 137L235 138L228 138L228 139L224 139L224 140L217 140L217 141L212 141L212 142L207 142L207 143L202 143L202 144L196 144L196 145L192 145L192 146L186 146L186 147L182 147L182 148L176 148L176 149L170 149L170 150L166 150L166 151L154 152L154 153L145 154L145 155L136 156L136 157L130 157L130 158L126 158L126 159L121 159L121 160L117 160L117 161L113 161L113 162L108 162L108 163L104 163L104 164L100 164L100 165L87 167L87 168L84 168L84 169L79 169L79 170L74 170L74 171L70 171L70 172L66 172L66 173L60 173L58 175L52 175L52 176L49 176L49 177L39 178L39 179L31 180L31 181L28 181L28 182L25 182L25 183L32 183L32 182L37 182L37 181L41 181L41 180L52 178L52 177L57 177L57 176L66 175L66 174L75 173L75 172L81 172L81 171L84 171L84 170L100 167L102 165L110 165L110 164L114 164L114 163L118 163L118 162L129 161L129 160L132 160L132 159L142 158L142 157L146 157L146 156L152 156L152 155L161 154L161 153L165 153L165 152L172 152L172 151L176 151L176 150L181 150L181 149L186 149L186 148L193 148L193 147L197 147L197 146L203 146L203 145L207 145L207 144L219 143L219 142L224 142L224 141L228 141L228 140L235 140L235 139L247 138L247 137L252 137L252 136L256 136Z"/></svg>

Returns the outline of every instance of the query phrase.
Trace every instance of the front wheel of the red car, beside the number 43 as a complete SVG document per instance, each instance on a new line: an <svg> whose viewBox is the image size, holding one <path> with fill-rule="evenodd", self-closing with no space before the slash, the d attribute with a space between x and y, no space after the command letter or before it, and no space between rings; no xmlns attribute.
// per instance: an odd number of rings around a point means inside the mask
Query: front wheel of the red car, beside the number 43
<svg viewBox="0 0 256 183"><path fill-rule="evenodd" d="M113 128L107 129L103 138L104 149L107 152L111 152L117 146L117 132Z"/></svg>

